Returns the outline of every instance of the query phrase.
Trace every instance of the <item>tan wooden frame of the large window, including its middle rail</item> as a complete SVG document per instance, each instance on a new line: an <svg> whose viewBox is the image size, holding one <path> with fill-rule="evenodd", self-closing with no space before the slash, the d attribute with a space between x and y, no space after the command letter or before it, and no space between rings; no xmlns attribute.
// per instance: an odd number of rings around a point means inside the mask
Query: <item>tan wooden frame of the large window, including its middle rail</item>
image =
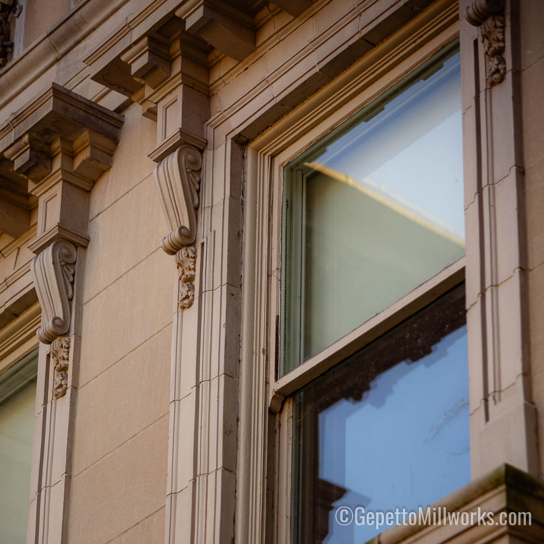
<svg viewBox="0 0 544 544"><path fill-rule="evenodd" d="M246 148L237 535L290 542L290 395L465 277L465 258L288 374L277 377L283 167L458 39L459 7L441 1L400 28Z"/></svg>

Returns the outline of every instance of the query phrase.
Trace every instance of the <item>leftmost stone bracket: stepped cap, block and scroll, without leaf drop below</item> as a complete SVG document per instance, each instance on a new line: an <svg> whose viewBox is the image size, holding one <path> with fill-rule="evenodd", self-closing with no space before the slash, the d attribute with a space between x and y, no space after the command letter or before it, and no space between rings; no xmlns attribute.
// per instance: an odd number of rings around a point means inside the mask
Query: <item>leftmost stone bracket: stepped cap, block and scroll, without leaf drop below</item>
<svg viewBox="0 0 544 544"><path fill-rule="evenodd" d="M0 196L12 203L4 209L18 219L17 232L28 228L28 205L38 201L29 248L38 255L30 271L43 343L70 331L77 247L89 242L88 191L110 166L122 122L121 115L52 83L0 126L0 179L10 187Z"/></svg>

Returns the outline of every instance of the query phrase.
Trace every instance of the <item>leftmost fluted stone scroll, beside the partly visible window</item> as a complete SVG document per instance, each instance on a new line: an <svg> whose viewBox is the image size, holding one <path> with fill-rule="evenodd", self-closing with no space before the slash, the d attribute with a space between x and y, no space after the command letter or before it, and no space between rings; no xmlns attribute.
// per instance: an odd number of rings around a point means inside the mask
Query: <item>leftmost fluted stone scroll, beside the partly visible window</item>
<svg viewBox="0 0 544 544"><path fill-rule="evenodd" d="M55 240L30 264L45 320L36 335L44 344L51 344L70 330L76 258L77 250L71 242Z"/></svg>

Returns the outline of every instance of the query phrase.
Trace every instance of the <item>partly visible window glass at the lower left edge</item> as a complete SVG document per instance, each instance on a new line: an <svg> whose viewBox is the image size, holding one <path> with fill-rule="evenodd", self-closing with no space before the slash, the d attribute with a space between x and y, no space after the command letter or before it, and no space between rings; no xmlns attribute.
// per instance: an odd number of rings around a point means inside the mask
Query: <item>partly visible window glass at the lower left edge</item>
<svg viewBox="0 0 544 544"><path fill-rule="evenodd" d="M0 376L0 542L27 541L38 350Z"/></svg>

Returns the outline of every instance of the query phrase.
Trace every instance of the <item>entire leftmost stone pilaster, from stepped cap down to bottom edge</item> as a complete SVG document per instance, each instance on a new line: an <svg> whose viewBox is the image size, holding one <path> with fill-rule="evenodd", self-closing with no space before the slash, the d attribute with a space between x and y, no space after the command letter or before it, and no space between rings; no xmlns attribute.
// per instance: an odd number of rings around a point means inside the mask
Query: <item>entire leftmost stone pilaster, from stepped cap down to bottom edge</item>
<svg viewBox="0 0 544 544"><path fill-rule="evenodd" d="M0 128L0 176L26 184L27 202L38 202L29 248L36 254L30 270L41 306L44 400L31 481L33 542L67 538L89 191L110 166L121 126L122 116L53 83Z"/></svg>

